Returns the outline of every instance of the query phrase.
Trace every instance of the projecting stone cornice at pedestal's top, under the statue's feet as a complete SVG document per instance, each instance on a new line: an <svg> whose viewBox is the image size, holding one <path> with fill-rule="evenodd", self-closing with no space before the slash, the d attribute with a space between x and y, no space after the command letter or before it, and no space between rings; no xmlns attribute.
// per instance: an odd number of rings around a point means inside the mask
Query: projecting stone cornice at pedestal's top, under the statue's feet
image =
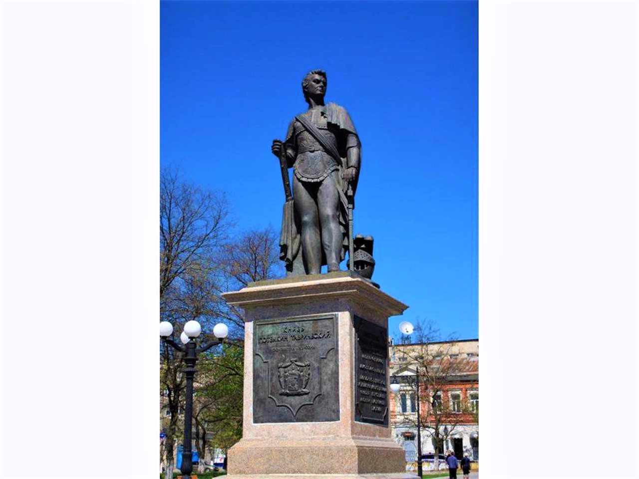
<svg viewBox="0 0 639 479"><path fill-rule="evenodd" d="M408 305L397 301L371 282L350 271L259 281L249 284L240 291L223 293L222 297L227 303L245 310L342 299L375 308L387 317L402 314L408 308Z"/></svg>

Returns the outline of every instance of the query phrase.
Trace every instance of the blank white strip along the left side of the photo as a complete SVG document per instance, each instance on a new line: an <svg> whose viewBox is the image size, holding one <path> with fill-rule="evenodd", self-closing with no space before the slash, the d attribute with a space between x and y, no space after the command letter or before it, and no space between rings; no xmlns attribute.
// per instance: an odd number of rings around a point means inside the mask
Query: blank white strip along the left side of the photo
<svg viewBox="0 0 639 479"><path fill-rule="evenodd" d="M157 478L159 4L2 13L0 474Z"/></svg>

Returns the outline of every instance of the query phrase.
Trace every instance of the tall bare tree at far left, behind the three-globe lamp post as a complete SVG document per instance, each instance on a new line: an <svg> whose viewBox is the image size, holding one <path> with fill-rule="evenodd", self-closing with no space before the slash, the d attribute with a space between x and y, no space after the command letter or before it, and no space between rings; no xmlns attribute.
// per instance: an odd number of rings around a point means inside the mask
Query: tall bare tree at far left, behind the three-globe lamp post
<svg viewBox="0 0 639 479"><path fill-rule="evenodd" d="M189 319L219 302L211 284L215 250L229 231L227 205L222 195L203 191L181 181L174 169L160 174L160 317L176 325L176 333ZM161 388L165 392L170 420L166 430L166 477L173 474L174 439L185 387L180 354L162 347Z"/></svg>

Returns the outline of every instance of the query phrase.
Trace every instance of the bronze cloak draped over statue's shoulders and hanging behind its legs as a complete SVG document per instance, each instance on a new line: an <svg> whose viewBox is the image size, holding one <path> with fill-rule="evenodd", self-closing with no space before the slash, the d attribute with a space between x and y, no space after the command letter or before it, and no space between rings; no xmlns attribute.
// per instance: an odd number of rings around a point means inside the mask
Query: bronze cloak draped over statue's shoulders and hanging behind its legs
<svg viewBox="0 0 639 479"><path fill-rule="evenodd" d="M361 148L361 145L359 142L359 137L357 135L357 130L355 130L355 125L353 125L353 121L351 121L351 118L344 107L341 107L336 103L327 103L327 105L321 108L321 112L322 116L326 119L327 124L332 125L332 131L337 132L337 151L341 156L341 158L335 158L335 160L339 160L337 161L337 171L331 172L326 178L322 179L321 181L332 182L335 185L335 188L337 188L337 193L339 194L339 229L342 232L343 238L340 261L343 261L344 257L346 257L346 251L348 251L348 202L346 201L346 188L348 188L348 183L342 180L342 173L344 171L344 168L348 168L350 166L356 166L359 168L359 165L349 165L348 160L346 159L346 149L350 148L351 146L355 146L353 144L347 144L347 141L351 143L353 141L352 137L351 139L348 139L349 136L355 135L355 139L357 141L356 146L358 148ZM307 114L308 111L305 113ZM296 130L298 130L298 132L296 132ZM288 165L289 167L295 167L295 163L298 157L296 151L295 135L296 133L300 133L303 130L305 130L304 126L295 118L288 126L288 132L286 133L284 145L295 152L295 160L293 161L292 165ZM325 153L330 155L330 153L328 152ZM300 176L298 176L298 179L300 181L304 181L304 179L300 178ZM357 185L353 185L353 194L355 192L356 186ZM293 262L298 259L298 255L300 255L302 252L302 242L300 238L300 218L295 213L294 202L295 198L293 198L292 201L287 201L284 204L284 211L282 211L282 231L279 241L280 259L286 262L286 270L289 273L293 272ZM299 259L301 259L301 256L299 257ZM323 248L322 264L326 264L326 257Z"/></svg>

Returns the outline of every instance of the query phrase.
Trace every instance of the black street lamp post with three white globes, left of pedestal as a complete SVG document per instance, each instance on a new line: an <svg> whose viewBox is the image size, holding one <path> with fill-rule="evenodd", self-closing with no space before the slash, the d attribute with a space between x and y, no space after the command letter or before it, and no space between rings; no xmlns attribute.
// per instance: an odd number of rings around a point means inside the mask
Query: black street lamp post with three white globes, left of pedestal
<svg viewBox="0 0 639 479"><path fill-rule="evenodd" d="M213 328L213 335L217 338L202 347L197 347L196 338L200 335L202 328L197 321L188 321L184 325L184 331L180 336L184 346L180 346L173 339L169 338L173 334L173 325L168 321L160 323L160 337L162 341L169 344L176 351L183 353L183 359L186 367L183 370L187 380L186 404L184 407L184 446L182 450L182 463L180 471L183 476L190 476L193 471L193 450L192 450L192 420L193 420L193 379L196 374L197 354L208 351L213 346L220 344L228 334L226 324L218 323Z"/></svg>

